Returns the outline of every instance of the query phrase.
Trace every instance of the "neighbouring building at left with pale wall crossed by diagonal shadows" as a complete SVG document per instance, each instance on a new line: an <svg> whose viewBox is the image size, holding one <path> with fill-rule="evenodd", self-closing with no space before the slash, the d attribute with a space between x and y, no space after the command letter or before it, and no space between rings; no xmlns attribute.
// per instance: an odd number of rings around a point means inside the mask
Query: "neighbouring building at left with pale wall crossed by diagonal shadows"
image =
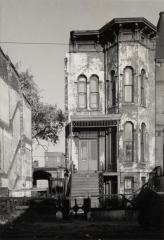
<svg viewBox="0 0 164 240"><path fill-rule="evenodd" d="M32 187L31 107L19 74L0 49L0 195L30 196Z"/></svg>

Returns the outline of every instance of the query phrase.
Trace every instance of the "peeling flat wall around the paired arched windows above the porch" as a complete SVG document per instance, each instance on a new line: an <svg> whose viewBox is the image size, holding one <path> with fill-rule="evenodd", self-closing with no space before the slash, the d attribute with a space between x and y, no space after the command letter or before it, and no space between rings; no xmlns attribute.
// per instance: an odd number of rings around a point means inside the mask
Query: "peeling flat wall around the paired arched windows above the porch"
<svg viewBox="0 0 164 240"><path fill-rule="evenodd" d="M105 112L104 99L104 56L103 53L69 53L67 60L67 77L68 88L66 99L68 105L68 121L71 115L97 115ZM87 109L78 111L78 96L77 96L77 80L83 74L87 78ZM89 107L89 82L90 77L96 74L99 78L99 109L93 111Z"/></svg>

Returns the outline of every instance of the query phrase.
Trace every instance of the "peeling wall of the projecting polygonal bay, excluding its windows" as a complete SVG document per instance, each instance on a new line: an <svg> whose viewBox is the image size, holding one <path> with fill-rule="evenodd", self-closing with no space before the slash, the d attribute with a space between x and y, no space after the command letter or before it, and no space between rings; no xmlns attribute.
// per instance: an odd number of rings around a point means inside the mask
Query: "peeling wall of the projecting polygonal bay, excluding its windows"
<svg viewBox="0 0 164 240"><path fill-rule="evenodd" d="M120 190L123 192L123 179L134 177L134 189L139 188L142 175L148 178L148 173L155 167L155 64L154 51L136 42L119 43L119 171L121 173ZM124 102L124 69L134 70L134 102ZM141 106L141 70L146 72L145 106ZM134 156L132 163L125 160L124 125L129 121L134 124ZM146 125L145 161L141 162L141 124ZM126 173L126 174L125 174Z"/></svg>

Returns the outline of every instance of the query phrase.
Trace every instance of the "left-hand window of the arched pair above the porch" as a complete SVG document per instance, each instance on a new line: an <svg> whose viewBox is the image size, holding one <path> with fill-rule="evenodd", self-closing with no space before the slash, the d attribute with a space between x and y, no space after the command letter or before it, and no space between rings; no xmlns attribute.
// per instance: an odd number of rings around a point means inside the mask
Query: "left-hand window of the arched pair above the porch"
<svg viewBox="0 0 164 240"><path fill-rule="evenodd" d="M78 78L78 108L87 107L87 79L81 75Z"/></svg>

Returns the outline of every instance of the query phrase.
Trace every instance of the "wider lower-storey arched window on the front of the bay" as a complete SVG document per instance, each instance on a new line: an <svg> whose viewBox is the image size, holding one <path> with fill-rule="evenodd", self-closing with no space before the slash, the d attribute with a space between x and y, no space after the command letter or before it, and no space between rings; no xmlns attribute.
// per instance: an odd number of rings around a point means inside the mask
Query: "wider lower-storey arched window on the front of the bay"
<svg viewBox="0 0 164 240"><path fill-rule="evenodd" d="M133 161L133 149L134 149L134 129L133 123L127 122L125 124L124 131L124 149L125 160L128 162Z"/></svg>

